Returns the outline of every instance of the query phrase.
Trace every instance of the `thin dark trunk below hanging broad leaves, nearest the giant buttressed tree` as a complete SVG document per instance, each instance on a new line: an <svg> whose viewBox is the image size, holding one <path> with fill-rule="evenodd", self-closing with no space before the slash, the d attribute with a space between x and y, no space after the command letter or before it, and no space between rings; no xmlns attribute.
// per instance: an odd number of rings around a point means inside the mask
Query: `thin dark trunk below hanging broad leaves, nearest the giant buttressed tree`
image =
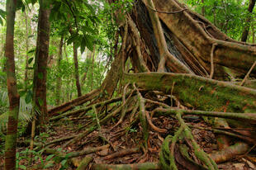
<svg viewBox="0 0 256 170"><path fill-rule="evenodd" d="M81 92L79 70L78 70L78 50L75 47L74 43L73 43L73 64L74 64L74 77L75 77L75 80L76 80L75 82L78 89L78 97L81 97L82 92Z"/></svg>

